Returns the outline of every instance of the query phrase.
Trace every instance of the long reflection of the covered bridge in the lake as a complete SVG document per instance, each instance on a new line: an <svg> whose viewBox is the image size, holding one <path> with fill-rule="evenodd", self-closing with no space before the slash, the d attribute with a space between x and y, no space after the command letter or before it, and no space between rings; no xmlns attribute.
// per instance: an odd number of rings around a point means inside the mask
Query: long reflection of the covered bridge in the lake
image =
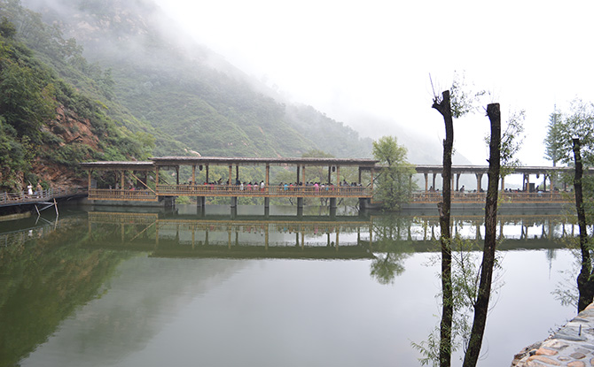
<svg viewBox="0 0 594 367"><path fill-rule="evenodd" d="M453 233L482 243L481 217L453 220ZM564 248L574 224L561 216L500 216L499 249ZM436 217L191 218L158 214L89 213L90 246L147 251L164 257L372 258L387 244L436 251Z"/></svg>

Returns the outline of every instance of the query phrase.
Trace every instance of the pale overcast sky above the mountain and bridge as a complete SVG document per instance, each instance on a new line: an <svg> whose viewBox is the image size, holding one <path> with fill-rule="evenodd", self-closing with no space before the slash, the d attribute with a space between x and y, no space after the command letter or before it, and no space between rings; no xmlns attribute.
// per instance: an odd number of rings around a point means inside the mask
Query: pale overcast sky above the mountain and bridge
<svg viewBox="0 0 594 367"><path fill-rule="evenodd" d="M487 103L526 111L520 159L549 165L555 103L594 101L590 1L157 0L197 41L362 136L408 128L441 145L436 92L464 72ZM381 121L381 122L379 122ZM484 111L455 121L455 149L486 164ZM412 162L414 163L414 162Z"/></svg>

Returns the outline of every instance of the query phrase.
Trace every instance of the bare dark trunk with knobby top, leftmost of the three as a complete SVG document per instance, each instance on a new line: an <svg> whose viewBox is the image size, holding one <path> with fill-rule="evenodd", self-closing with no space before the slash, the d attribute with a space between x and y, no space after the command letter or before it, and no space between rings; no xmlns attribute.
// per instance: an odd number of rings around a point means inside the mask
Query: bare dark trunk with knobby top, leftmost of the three
<svg viewBox="0 0 594 367"><path fill-rule="evenodd" d="M440 366L451 364L451 328L454 313L454 300L451 287L451 233L449 231L449 211L451 207L451 155L454 145L454 124L451 116L449 90L442 93L442 101L434 101L432 106L443 116L446 138L443 140L443 186L442 203L437 204L442 231L442 322L440 324Z"/></svg>

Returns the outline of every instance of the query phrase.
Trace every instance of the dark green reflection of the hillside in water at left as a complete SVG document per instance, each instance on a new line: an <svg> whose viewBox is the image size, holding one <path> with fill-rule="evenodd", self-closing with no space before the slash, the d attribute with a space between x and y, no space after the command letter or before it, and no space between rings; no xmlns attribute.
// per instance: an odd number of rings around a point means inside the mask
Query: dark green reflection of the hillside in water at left
<svg viewBox="0 0 594 367"><path fill-rule="evenodd" d="M60 219L43 237L0 248L0 365L18 365L89 302L125 255L88 250L86 218Z"/></svg>

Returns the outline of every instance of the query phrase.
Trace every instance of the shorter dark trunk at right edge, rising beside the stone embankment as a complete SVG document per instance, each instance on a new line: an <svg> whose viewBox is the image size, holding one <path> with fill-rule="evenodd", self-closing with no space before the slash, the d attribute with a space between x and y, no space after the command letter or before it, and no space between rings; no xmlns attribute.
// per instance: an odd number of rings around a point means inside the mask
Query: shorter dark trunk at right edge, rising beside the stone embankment
<svg viewBox="0 0 594 367"><path fill-rule="evenodd" d="M577 276L577 289L580 293L577 302L577 312L582 312L592 302L594 298L594 284L590 281L591 262L590 250L588 249L588 232L586 228L586 212L583 209L582 193L582 154L579 139L574 139L574 190L575 190L575 209L577 210L577 224L580 227L580 249L582 250L582 270Z"/></svg>

